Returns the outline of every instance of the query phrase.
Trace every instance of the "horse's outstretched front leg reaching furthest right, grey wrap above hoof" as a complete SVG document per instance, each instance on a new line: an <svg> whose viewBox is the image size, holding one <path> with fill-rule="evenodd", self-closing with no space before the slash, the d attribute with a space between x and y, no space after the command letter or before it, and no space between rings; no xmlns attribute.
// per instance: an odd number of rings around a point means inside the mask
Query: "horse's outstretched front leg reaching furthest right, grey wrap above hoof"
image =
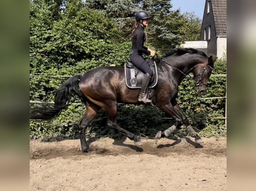
<svg viewBox="0 0 256 191"><path fill-rule="evenodd" d="M189 132L189 135L191 137L195 137L195 141L197 143L203 142L202 138L197 134L197 132L193 129L193 127L190 125L187 117L182 112L181 108L179 107L179 104L177 103L176 99L171 100L171 104L173 106L173 109L175 113L178 114L178 116L181 118L182 122L185 124L187 131Z"/></svg>

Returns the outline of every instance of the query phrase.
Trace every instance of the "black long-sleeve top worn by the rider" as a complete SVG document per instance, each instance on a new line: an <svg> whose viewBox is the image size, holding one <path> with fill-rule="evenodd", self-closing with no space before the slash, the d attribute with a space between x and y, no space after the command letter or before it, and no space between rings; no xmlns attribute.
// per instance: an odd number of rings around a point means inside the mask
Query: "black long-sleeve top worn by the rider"
<svg viewBox="0 0 256 191"><path fill-rule="evenodd" d="M132 37L132 49L137 50L138 53L150 55L150 51L144 47L144 42L146 41L146 34L144 33L144 27L139 25L137 29L133 32Z"/></svg>

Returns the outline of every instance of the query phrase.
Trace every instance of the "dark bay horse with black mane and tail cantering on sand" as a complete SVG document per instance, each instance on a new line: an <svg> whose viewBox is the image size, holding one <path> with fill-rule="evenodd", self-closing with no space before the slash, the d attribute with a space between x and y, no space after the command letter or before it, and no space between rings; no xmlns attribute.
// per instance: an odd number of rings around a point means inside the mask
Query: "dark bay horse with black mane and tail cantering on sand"
<svg viewBox="0 0 256 191"><path fill-rule="evenodd" d="M201 137L190 125L188 119L177 104L178 86L190 72L194 75L195 90L202 93L213 71L216 58L191 49L173 49L161 59L154 58L158 68L158 84L152 91L152 102L169 117L175 118L176 124L159 131L157 138L169 136L183 122L191 137L200 143ZM69 105L72 95L78 95L86 105L84 117L79 122L80 140L83 152L90 151L86 142L85 131L101 108L107 115L107 126L134 140L141 146L141 140L135 134L121 128L116 121L117 103L143 104L138 102L140 89L128 89L125 83L124 67L98 67L83 75L75 75L61 85L55 94L54 104L43 102L41 106L30 110L30 119L50 120L58 116Z"/></svg>

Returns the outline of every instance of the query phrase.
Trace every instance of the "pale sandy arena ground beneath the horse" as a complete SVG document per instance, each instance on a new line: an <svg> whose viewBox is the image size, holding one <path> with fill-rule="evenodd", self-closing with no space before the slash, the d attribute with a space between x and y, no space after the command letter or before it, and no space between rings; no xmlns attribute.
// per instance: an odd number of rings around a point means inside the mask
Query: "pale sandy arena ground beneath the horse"
<svg viewBox="0 0 256 191"><path fill-rule="evenodd" d="M104 138L91 153L81 152L79 139L31 140L30 190L227 190L227 138L203 139L142 139L142 150Z"/></svg>

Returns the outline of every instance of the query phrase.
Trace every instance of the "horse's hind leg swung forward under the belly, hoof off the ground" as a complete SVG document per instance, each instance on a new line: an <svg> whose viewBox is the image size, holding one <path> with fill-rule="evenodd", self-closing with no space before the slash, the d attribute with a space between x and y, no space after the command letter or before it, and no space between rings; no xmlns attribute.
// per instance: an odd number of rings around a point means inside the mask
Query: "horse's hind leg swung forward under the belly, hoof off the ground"
<svg viewBox="0 0 256 191"><path fill-rule="evenodd" d="M126 135L129 139L134 140L136 146L141 146L141 140L135 134L121 128L116 122L117 116L117 104L113 102L103 107L107 114L107 126L111 129L117 130L118 132Z"/></svg>

